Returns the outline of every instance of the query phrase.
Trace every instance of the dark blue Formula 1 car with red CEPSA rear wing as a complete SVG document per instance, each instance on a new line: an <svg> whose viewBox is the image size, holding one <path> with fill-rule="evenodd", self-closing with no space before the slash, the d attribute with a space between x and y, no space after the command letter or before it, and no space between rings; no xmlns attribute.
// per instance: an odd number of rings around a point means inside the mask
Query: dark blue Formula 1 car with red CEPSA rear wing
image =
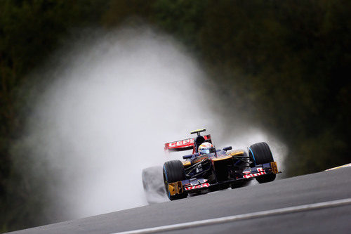
<svg viewBox="0 0 351 234"><path fill-rule="evenodd" d="M188 138L165 144L166 151L192 149L191 155L183 156L185 161L172 160L164 163L163 177L166 195L178 200L187 195L208 193L225 188L239 188L256 178L258 183L274 181L277 162L274 162L270 147L265 142L256 143L244 150L225 147L220 150L201 152L202 145L210 143L211 135L201 136L206 129L192 131L196 138ZM213 146L213 145L212 145Z"/></svg>

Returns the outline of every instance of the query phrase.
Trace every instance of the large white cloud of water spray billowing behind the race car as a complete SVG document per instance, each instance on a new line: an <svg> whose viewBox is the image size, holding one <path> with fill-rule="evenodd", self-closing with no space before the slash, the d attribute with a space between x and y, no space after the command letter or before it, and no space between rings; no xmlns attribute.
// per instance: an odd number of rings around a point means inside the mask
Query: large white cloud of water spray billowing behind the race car
<svg viewBox="0 0 351 234"><path fill-rule="evenodd" d="M208 108L218 101L214 84L171 37L124 28L72 45L44 74L53 82L29 125L32 157L50 162L53 199L67 219L147 204L142 169L179 158L165 156L164 143L192 129L206 127L218 147L267 141L278 160L286 154L279 141L243 120L231 117L240 135L227 132L232 126Z"/></svg>

